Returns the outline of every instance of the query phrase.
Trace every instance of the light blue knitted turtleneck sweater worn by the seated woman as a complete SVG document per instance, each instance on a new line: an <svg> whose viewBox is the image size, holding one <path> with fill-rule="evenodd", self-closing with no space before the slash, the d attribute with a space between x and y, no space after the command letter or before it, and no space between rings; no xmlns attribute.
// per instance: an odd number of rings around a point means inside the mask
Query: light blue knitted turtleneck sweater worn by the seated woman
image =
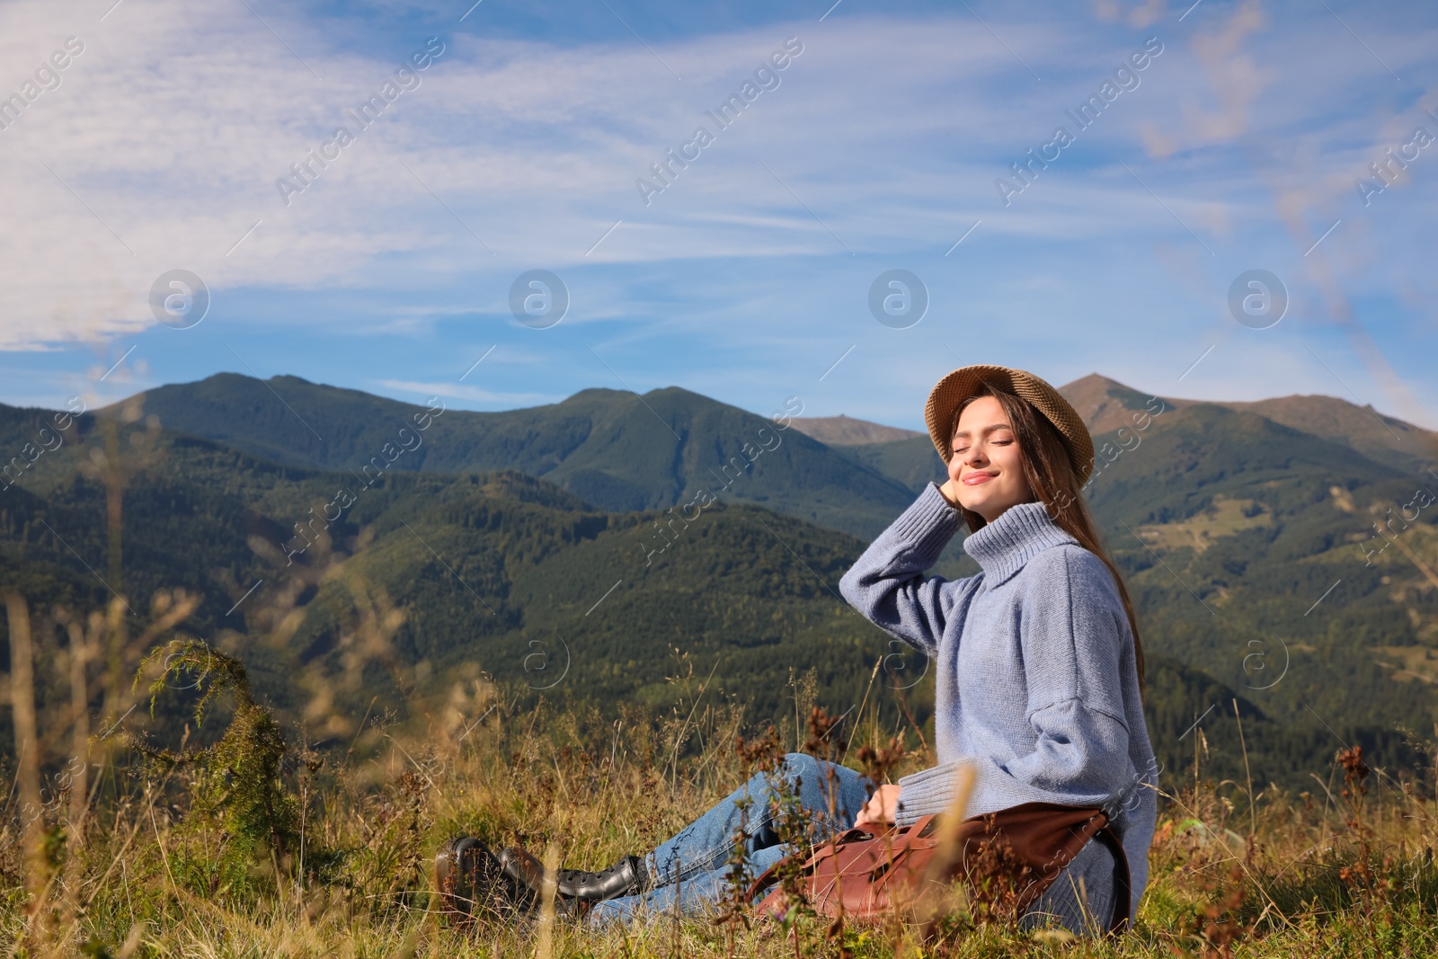
<svg viewBox="0 0 1438 959"><path fill-rule="evenodd" d="M962 759L978 772L969 815L1022 802L1103 807L1123 840L1136 914L1158 765L1113 577L1043 503L1011 506L963 541L979 575L925 577L962 522L930 483L840 581L864 617L936 663L939 765L899 781L897 821L943 811ZM1087 909L1107 922L1112 870L1090 843L1041 906L1078 932L1081 880Z"/></svg>

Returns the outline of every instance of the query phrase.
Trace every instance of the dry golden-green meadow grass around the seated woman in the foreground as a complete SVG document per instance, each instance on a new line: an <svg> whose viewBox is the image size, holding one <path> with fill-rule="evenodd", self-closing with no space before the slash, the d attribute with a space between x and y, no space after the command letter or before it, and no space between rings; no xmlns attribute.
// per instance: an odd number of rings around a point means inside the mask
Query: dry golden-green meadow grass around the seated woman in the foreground
<svg viewBox="0 0 1438 959"><path fill-rule="evenodd" d="M398 728L371 726L370 739L388 748L364 761L344 762L341 753L334 768L292 768L293 789L298 776L308 782L302 868L296 848L283 861L270 857L224 873L227 838L186 825L178 774L147 779L131 769L108 808L92 809L81 824L83 835L68 832L63 802L47 809L50 868L36 907L10 822L0 834L0 945L26 956L70 956L89 945L91 955L196 958L1438 950L1432 804L1368 775L1353 756L1342 786L1326 786L1317 798L1270 789L1252 817L1229 791L1172 798L1136 929L1119 943L962 923L952 942L926 949L915 930L900 942L854 929L825 940L821 924L801 927L797 943L741 926L731 943L728 929L700 916L605 930L559 922L552 937L538 936L533 922L460 930L441 919L430 894L431 857L450 835L522 841L539 851L552 843L565 864L600 867L663 841L745 775L731 748L741 720L732 709L605 722L597 713L521 710L483 683L466 706L473 712L460 722L436 722L403 740ZM483 719L475 723L475 716ZM686 753L683 745L696 736L710 745ZM1345 769L1332 774L1342 781Z"/></svg>

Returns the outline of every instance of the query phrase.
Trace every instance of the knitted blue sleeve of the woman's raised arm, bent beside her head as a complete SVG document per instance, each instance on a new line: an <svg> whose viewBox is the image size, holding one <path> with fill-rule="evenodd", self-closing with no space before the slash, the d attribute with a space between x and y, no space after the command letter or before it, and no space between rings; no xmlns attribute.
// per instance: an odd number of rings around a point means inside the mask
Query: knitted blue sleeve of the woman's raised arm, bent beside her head
<svg viewBox="0 0 1438 959"><path fill-rule="evenodd" d="M939 637L959 589L978 581L922 575L939 561L959 522L959 510L929 483L838 581L844 598L864 618L930 657L939 654Z"/></svg>

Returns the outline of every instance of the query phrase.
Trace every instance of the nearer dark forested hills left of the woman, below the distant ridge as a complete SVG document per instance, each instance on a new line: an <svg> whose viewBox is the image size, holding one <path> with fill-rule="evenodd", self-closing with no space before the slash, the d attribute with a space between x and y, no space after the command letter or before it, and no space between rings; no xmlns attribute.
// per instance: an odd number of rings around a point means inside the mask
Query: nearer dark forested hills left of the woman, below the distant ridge
<svg viewBox="0 0 1438 959"><path fill-rule="evenodd" d="M27 436L42 416L0 407L0 440ZM315 684L295 677L315 664L354 719L372 697L397 707L391 659L434 689L482 670L532 696L667 703L676 650L715 670L715 703L782 717L791 673L817 669L824 702L857 702L874 663L894 654L837 597L861 542L766 509L720 500L689 522L603 512L516 472L391 472L362 486L141 424L118 428L122 451L151 451L124 492L115 577L105 487L79 469L106 447L104 426L81 417L62 449L0 493L0 578L36 615L99 608L114 585L135 608L135 631L155 591L184 588L201 597L187 633L242 656L289 717L306 715ZM132 441L147 436L148 446ZM351 495L342 515L315 520L341 489ZM295 535L305 522L312 543ZM326 566L331 546L348 554L342 568ZM361 648L357 589L404 614L383 648ZM286 594L301 621L275 647L263 637ZM62 680L39 690L42 706L63 702ZM932 697L912 696L922 720Z"/></svg>

